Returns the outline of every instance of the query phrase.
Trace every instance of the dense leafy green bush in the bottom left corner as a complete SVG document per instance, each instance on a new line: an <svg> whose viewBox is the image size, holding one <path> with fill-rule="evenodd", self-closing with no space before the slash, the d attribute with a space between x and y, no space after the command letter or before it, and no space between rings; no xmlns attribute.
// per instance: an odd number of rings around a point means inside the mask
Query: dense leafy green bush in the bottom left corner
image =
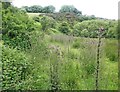
<svg viewBox="0 0 120 92"><path fill-rule="evenodd" d="M30 62L26 55L16 49L2 47L3 90L21 89L29 73Z"/></svg>

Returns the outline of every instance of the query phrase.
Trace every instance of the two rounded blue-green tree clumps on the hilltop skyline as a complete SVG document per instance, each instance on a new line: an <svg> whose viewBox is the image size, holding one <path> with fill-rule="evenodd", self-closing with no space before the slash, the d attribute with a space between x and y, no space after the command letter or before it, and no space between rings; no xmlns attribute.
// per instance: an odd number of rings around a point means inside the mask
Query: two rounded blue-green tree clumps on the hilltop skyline
<svg viewBox="0 0 120 92"><path fill-rule="evenodd" d="M45 7L42 7L40 5L33 5L30 7L23 6L21 9L29 13L55 13L55 7L53 5ZM82 12L75 8L73 5L64 5L61 7L59 12L60 13L70 12L78 15L82 14Z"/></svg>

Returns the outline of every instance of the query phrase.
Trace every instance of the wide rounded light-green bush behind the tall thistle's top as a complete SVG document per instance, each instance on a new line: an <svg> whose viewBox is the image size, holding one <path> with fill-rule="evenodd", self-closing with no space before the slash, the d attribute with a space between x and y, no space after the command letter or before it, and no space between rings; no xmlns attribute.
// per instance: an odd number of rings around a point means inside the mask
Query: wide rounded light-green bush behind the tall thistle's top
<svg viewBox="0 0 120 92"><path fill-rule="evenodd" d="M87 20L83 22L78 22L74 25L74 34L83 37L91 37L96 38L98 37L98 30L100 27L105 29L106 34L105 37L115 38L116 37L116 27L117 22L110 21L110 20Z"/></svg>

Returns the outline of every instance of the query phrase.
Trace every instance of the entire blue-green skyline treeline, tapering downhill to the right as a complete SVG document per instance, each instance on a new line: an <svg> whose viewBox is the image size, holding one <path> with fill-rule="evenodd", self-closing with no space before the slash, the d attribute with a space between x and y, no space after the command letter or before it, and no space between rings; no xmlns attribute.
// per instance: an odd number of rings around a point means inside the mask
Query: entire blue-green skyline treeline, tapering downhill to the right
<svg viewBox="0 0 120 92"><path fill-rule="evenodd" d="M77 17L77 20L79 20L80 22L91 19L105 19L101 17L96 17L95 15L83 15L82 11L78 10L73 5L63 5L58 12L55 11L56 9L53 5L48 5L45 7L42 7L41 5L23 6L20 9L27 13L52 13L54 14L54 16L63 13L71 13L74 14Z"/></svg>

